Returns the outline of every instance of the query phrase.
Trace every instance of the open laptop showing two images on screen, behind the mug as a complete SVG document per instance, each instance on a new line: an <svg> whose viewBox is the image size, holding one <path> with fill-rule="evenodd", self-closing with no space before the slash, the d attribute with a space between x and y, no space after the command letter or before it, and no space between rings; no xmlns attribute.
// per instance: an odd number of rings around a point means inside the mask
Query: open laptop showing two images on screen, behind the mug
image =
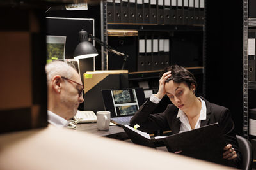
<svg viewBox="0 0 256 170"><path fill-rule="evenodd" d="M102 90L105 110L111 112L111 122L130 125L130 120L146 101L143 88Z"/></svg>

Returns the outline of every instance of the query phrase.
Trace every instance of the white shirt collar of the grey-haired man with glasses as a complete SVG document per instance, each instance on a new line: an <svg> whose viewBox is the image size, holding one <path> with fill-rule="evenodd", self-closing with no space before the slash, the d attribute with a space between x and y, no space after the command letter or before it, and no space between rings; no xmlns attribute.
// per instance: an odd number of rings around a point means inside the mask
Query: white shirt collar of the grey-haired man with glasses
<svg viewBox="0 0 256 170"><path fill-rule="evenodd" d="M65 118L47 110L48 122L56 127L68 127L68 121Z"/></svg>

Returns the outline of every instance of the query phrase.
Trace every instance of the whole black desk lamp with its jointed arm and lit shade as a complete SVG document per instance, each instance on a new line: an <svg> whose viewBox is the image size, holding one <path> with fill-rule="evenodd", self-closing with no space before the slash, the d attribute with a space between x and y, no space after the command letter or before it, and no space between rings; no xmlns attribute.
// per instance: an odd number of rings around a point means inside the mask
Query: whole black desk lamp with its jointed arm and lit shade
<svg viewBox="0 0 256 170"><path fill-rule="evenodd" d="M79 37L81 42L76 46L76 49L74 52L74 59L84 59L84 58L95 57L99 55L96 48L92 45L92 43L88 41L88 33L86 31L84 31L83 29L79 31ZM108 52L112 52L118 56L122 56L124 61L121 69L124 69L125 62L129 57L129 55L114 50L114 48L100 41L100 39L96 38L95 36L90 35L90 39L93 39L100 45L104 46L104 48L106 48Z"/></svg>

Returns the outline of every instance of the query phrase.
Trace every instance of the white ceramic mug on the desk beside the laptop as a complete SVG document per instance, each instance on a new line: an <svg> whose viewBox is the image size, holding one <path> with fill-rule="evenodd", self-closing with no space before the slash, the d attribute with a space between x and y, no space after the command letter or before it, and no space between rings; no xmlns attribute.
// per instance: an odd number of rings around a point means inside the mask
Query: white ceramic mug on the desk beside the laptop
<svg viewBox="0 0 256 170"><path fill-rule="evenodd" d="M110 123L110 111L97 111L97 127L99 130L108 130Z"/></svg>

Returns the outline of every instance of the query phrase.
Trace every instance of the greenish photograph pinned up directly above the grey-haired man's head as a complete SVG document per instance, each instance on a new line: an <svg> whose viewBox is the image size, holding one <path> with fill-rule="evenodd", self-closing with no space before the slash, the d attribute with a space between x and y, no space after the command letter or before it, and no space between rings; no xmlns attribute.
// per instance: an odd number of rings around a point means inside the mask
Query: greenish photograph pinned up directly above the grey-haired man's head
<svg viewBox="0 0 256 170"><path fill-rule="evenodd" d="M47 61L65 59L66 36L46 36Z"/></svg>

